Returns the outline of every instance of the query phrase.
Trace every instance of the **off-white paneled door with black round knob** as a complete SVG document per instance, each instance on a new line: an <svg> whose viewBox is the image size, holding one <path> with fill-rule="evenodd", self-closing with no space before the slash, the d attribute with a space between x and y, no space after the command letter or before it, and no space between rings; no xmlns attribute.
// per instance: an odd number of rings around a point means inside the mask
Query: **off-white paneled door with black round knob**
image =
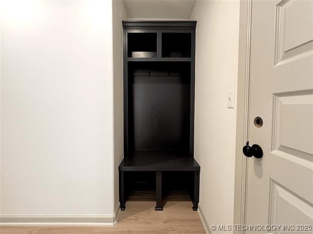
<svg viewBox="0 0 313 234"><path fill-rule="evenodd" d="M246 224L313 225L313 0L252 0L249 121Z"/></svg>

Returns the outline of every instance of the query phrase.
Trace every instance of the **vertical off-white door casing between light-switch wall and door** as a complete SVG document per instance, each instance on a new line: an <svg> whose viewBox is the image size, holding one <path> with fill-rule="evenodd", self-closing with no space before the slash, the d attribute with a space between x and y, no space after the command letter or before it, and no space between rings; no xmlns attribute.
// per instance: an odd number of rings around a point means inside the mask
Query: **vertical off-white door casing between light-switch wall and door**
<svg viewBox="0 0 313 234"><path fill-rule="evenodd" d="M243 155L242 147L246 145L246 142L249 139L253 0L241 0L240 4L240 51L238 62L234 224L245 225L248 163L247 158ZM238 233L244 234L245 231L239 231Z"/></svg>

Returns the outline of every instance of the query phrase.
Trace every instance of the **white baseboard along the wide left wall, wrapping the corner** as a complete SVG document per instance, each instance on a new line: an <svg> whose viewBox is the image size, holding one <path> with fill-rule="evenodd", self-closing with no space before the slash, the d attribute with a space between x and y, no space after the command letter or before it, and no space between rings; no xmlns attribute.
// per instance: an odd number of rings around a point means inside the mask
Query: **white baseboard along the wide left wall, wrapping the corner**
<svg viewBox="0 0 313 234"><path fill-rule="evenodd" d="M114 214L3 214L0 226L114 226L120 211L119 203Z"/></svg>

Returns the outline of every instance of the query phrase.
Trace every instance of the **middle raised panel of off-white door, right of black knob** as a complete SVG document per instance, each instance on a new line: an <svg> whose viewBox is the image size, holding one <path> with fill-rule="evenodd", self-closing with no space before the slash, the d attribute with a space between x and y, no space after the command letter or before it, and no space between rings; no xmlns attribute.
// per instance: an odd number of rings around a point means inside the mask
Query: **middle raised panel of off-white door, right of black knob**
<svg viewBox="0 0 313 234"><path fill-rule="evenodd" d="M299 134L299 131L303 133L311 130L308 128L311 119L308 118L312 116L312 113L309 114L312 111L313 89L274 93L271 151L289 148L311 155L311 160L313 160L313 146L311 144L313 136L312 139L301 139L301 134ZM293 119L291 119L292 115L294 116ZM300 118L302 121L299 122ZM297 141L293 140L291 143L286 136L295 136Z"/></svg>

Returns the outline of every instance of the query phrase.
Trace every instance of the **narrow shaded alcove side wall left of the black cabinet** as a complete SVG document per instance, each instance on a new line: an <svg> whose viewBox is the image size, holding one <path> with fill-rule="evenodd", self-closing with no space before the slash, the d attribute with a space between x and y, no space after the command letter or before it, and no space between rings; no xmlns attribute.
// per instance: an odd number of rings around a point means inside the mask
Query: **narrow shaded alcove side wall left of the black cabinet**
<svg viewBox="0 0 313 234"><path fill-rule="evenodd" d="M114 205L118 204L118 165L123 159L123 28L127 20L122 0L112 1L113 10L113 99L114 99Z"/></svg>

